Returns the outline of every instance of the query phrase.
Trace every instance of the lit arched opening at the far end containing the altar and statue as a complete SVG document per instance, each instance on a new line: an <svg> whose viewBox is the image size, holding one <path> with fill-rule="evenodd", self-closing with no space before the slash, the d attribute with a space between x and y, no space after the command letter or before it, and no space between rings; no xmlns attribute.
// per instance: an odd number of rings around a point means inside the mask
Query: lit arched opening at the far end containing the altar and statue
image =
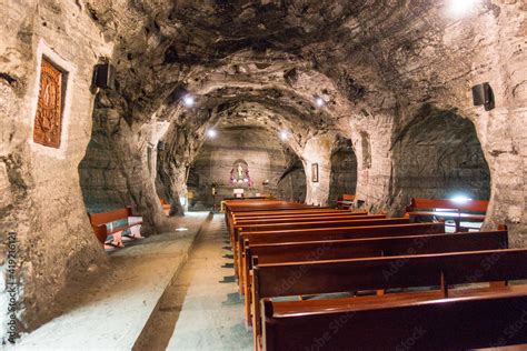
<svg viewBox="0 0 527 351"><path fill-rule="evenodd" d="M291 169L297 160L279 136L264 128L215 129L189 167L188 210L219 209L221 201L237 195L301 200L302 184ZM304 180L304 197L305 187Z"/></svg>

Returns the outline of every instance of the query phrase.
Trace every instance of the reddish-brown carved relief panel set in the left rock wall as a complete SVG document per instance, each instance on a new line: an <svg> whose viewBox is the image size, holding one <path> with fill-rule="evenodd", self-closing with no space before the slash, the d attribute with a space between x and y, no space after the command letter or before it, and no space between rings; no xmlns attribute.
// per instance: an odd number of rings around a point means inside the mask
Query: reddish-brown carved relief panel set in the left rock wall
<svg viewBox="0 0 527 351"><path fill-rule="evenodd" d="M60 70L42 58L33 141L57 149L60 147L62 127L62 76Z"/></svg>

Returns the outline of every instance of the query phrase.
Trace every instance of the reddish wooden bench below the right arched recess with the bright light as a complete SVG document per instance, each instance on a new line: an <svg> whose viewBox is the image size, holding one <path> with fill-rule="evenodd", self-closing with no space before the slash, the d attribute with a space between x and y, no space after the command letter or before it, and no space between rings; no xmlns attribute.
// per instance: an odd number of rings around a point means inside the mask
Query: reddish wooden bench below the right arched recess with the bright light
<svg viewBox="0 0 527 351"><path fill-rule="evenodd" d="M465 222L484 222L487 212L488 201L481 200L432 200L418 199L410 200L406 209L405 217L415 218L439 218L451 219L455 222L456 232L468 231L468 228L461 227Z"/></svg>

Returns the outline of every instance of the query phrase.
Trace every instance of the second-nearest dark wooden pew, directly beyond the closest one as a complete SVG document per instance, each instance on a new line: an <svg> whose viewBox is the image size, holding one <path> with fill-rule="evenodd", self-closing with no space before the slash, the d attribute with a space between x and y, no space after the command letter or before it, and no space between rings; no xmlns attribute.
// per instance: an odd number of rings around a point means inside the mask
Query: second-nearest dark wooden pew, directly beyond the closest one
<svg viewBox="0 0 527 351"><path fill-rule="evenodd" d="M256 264L251 289L255 342L258 347L260 300L265 298L422 287L439 287L448 298L449 285L524 279L527 249Z"/></svg>

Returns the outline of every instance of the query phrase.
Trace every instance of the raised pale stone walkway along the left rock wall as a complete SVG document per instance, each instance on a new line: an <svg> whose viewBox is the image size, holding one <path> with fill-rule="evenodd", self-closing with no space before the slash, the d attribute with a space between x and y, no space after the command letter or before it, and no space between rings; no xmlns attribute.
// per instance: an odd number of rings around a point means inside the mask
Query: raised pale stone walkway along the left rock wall
<svg viewBox="0 0 527 351"><path fill-rule="evenodd" d="M187 261L208 212L170 219L167 232L109 255L109 265L71 279L53 320L22 335L17 348L130 350L165 289Z"/></svg>

